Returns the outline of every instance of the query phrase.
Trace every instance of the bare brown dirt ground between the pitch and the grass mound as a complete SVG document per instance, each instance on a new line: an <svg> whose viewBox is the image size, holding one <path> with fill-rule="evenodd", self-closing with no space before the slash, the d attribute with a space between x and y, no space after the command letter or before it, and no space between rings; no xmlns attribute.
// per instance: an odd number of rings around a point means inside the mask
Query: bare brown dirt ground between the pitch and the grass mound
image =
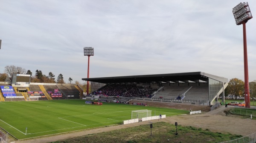
<svg viewBox="0 0 256 143"><path fill-rule="evenodd" d="M136 102L136 101L134 101ZM141 102L141 101L138 101ZM145 102L143 102L145 103ZM181 126L194 126L196 128L209 129L212 132L222 132L222 133L231 133L236 135L250 135L256 132L256 120L250 119L242 119L239 118L238 115L230 115L226 114L226 110L233 108L233 106L229 106L225 108L225 106L218 107L213 111L209 111L209 107L198 106L198 105L189 105L189 104L176 104L176 103L162 103L162 102L148 102L149 106L155 107L167 107L167 108L175 108L175 109L186 109L197 111L201 110L201 114L193 114L193 115L175 115L167 118L162 118L160 120L151 120L144 121L139 123L131 123L126 125L117 125L117 126L109 126L100 129L90 129L83 130L80 132L70 132L66 134L40 137L36 139L30 140L19 140L19 141L10 141L12 143L49 143L57 140L65 140L68 138L79 137L89 134L96 134L100 132L108 132L116 129L124 129L133 126L140 126L150 123L156 123L159 121L164 121L167 123L175 124Z"/></svg>

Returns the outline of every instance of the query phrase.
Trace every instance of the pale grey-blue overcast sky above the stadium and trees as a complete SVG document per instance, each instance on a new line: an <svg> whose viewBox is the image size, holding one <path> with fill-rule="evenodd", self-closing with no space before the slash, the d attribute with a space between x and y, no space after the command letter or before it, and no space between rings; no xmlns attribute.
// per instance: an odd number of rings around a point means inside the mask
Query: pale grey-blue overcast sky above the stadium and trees
<svg viewBox="0 0 256 143"><path fill-rule="evenodd" d="M240 2L256 15L255 0L1 0L0 73L15 65L85 83L93 47L90 78L201 71L244 81ZM246 23L249 82L255 25Z"/></svg>

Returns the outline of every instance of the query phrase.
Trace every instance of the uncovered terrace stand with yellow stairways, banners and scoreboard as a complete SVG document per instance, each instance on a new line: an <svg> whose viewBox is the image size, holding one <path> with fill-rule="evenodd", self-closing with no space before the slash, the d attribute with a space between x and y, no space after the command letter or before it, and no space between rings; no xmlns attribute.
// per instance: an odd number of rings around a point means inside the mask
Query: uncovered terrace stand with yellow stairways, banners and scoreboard
<svg viewBox="0 0 256 143"><path fill-rule="evenodd" d="M0 82L0 101L80 99L83 90L76 84L31 83L30 75L14 74L12 82Z"/></svg>

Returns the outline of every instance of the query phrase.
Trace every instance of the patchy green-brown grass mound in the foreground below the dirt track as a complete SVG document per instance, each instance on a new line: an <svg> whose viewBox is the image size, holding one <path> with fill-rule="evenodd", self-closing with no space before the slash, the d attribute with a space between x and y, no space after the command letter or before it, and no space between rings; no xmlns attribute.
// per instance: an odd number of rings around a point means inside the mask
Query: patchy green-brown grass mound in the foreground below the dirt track
<svg viewBox="0 0 256 143"><path fill-rule="evenodd" d="M219 143L234 140L241 135L211 132L209 129L197 129L192 126L176 126L166 122L119 129L111 132L76 137L52 143Z"/></svg>

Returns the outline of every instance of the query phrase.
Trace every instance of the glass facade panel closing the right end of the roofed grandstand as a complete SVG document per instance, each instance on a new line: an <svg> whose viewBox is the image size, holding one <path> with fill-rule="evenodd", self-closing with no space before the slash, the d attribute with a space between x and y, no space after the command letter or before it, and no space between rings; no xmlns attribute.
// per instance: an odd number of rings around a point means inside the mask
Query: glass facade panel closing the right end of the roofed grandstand
<svg viewBox="0 0 256 143"><path fill-rule="evenodd" d="M221 88L222 82L209 78L209 101L212 101Z"/></svg>

